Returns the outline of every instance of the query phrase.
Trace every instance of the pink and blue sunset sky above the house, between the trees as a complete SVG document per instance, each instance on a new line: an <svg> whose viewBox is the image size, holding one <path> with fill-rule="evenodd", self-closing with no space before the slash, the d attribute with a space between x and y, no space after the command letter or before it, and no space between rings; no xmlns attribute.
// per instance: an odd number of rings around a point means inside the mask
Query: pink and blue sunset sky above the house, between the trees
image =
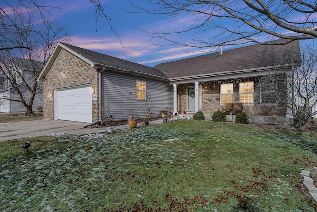
<svg viewBox="0 0 317 212"><path fill-rule="evenodd" d="M193 15L181 14L174 19L162 19L157 15L140 13L132 6L131 0L101 0L105 6L106 14L111 17L111 25L120 35L111 31L105 19L99 19L96 29L95 12L89 0L47 0L46 4L61 7L62 10L53 10L52 13L56 21L63 25L72 36L69 44L85 49L100 52L113 57L118 57L128 61L154 66L156 64L191 57L199 54L207 54L220 51L220 47L213 49L198 49L180 45L154 45L149 40L151 36L144 31L173 31L175 29L184 30L196 18ZM147 1L133 0L133 3L144 8L153 5ZM1 3L0 3L1 6ZM226 23L223 23L224 25ZM228 24L228 23L227 23ZM138 29L140 28L140 29ZM192 36L207 37L216 33L217 29L208 33L192 34ZM191 42L191 35L175 35L182 42ZM261 40L262 39L262 40ZM268 41L267 36L259 38L259 41ZM164 40L155 40L156 43L163 44ZM301 41L302 42L302 41ZM314 41L303 41L302 43L314 43ZM234 46L231 48L238 48ZM230 47L224 47L224 50ZM200 52L199 52L200 51Z"/></svg>

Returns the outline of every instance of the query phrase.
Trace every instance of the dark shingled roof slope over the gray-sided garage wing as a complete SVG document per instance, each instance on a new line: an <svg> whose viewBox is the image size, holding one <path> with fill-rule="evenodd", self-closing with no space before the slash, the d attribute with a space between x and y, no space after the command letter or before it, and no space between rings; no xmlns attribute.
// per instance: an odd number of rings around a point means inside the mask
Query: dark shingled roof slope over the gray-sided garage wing
<svg viewBox="0 0 317 212"><path fill-rule="evenodd" d="M148 67L131 61L126 61L120 58L94 52L88 49L83 49L77 46L72 46L65 43L61 44L88 59L96 66L167 79L166 75L156 68Z"/></svg>

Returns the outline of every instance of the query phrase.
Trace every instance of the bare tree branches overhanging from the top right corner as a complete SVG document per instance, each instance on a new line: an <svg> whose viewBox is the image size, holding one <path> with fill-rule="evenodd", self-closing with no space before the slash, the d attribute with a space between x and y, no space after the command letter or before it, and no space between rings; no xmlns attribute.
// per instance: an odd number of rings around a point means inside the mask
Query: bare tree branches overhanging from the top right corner
<svg viewBox="0 0 317 212"><path fill-rule="evenodd" d="M145 1L150 2L153 9L134 6L143 12L178 20L173 31L148 32L152 34L152 42L160 38L165 39L167 44L201 48L220 44L261 43L259 40L264 35L269 35L267 40L317 38L315 0ZM198 37L181 41L181 34L191 33L189 36L193 36L192 32Z"/></svg>

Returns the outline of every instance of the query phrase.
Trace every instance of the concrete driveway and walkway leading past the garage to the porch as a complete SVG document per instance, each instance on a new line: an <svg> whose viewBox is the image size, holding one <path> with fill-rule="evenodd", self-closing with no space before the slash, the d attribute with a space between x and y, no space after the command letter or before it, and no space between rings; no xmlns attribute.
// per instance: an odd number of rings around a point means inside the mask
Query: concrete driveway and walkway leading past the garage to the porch
<svg viewBox="0 0 317 212"><path fill-rule="evenodd" d="M150 125L161 124L161 119L150 121ZM50 133L65 133L76 136L82 136L94 133L105 133L107 129L103 128L84 128L89 123L46 120L39 119L33 121L22 121L12 123L0 123L0 141L21 139L24 137L39 136ZM140 126L138 123L137 127ZM114 132L118 130L130 129L129 125L113 126Z"/></svg>

